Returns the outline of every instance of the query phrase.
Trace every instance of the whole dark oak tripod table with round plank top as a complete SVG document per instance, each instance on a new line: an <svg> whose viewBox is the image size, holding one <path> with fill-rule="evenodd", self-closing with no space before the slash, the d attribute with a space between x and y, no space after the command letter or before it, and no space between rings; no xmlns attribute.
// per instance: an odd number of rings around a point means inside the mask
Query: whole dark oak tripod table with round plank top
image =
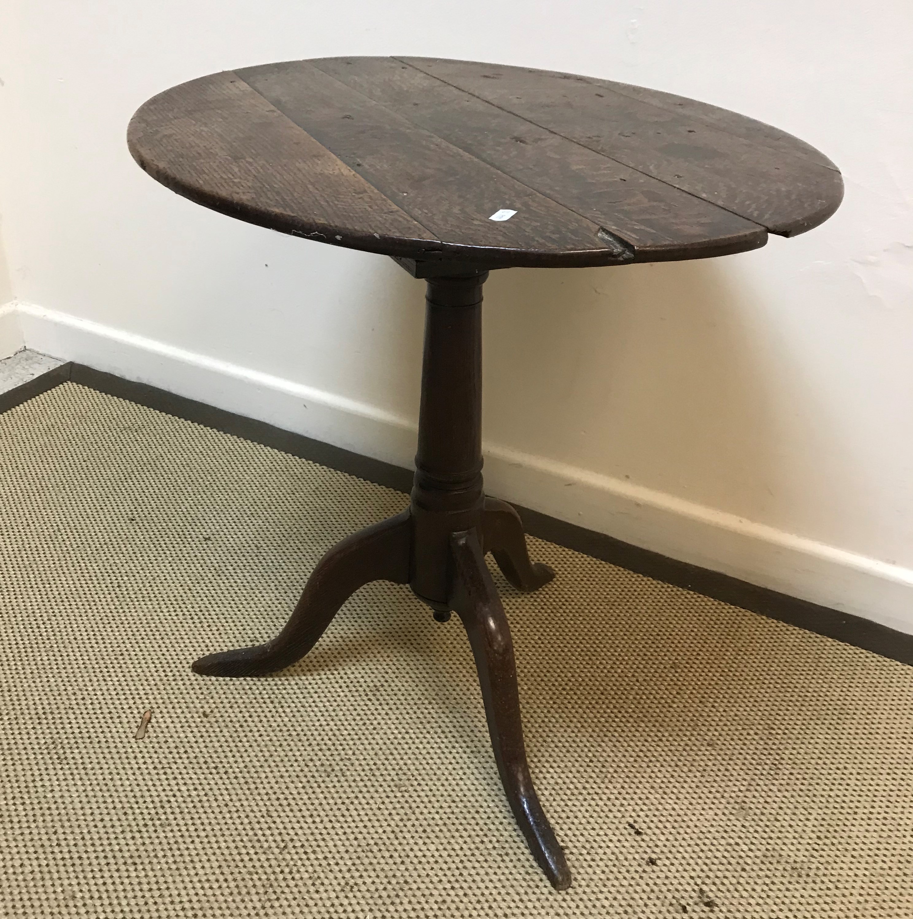
<svg viewBox="0 0 913 919"><path fill-rule="evenodd" d="M730 255L825 221L827 157L760 121L574 74L431 58L326 58L211 74L133 117L130 152L179 195L303 239L393 257L427 281L409 509L318 563L272 641L209 654L198 674L299 660L346 598L409 584L456 611L479 670L504 790L536 861L570 884L526 764L511 633L485 563L532 591L520 517L482 491L481 303L490 270ZM556 322L560 318L556 315Z"/></svg>

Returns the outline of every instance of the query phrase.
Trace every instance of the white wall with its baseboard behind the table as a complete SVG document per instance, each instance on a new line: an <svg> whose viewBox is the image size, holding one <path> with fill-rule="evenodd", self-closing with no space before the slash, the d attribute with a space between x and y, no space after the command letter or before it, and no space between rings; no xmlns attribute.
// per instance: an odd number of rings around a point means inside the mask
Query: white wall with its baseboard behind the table
<svg viewBox="0 0 913 919"><path fill-rule="evenodd" d="M492 275L488 481L913 631L909 0L7 0L0 17L0 213L26 341L402 464L421 282L159 187L124 143L145 98L257 62L439 55L655 86L817 145L847 195L811 233Z"/></svg>

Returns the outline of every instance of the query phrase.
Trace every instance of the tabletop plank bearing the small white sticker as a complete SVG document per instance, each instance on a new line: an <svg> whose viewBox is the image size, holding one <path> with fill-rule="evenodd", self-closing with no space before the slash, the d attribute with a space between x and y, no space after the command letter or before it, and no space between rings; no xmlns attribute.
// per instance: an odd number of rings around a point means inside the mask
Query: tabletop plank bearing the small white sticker
<svg viewBox="0 0 913 919"><path fill-rule="evenodd" d="M504 175L311 62L238 71L249 85L441 239L445 253L545 259L602 249L598 223ZM509 221L491 214L509 208Z"/></svg>

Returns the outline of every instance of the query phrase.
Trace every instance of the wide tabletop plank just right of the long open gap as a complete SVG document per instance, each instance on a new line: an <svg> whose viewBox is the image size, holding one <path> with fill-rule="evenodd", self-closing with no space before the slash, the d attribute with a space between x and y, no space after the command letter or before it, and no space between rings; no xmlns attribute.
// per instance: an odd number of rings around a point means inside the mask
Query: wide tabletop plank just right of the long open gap
<svg viewBox="0 0 913 919"><path fill-rule="evenodd" d="M827 220L843 198L840 173L832 164L811 162L806 145L802 155L791 155L739 136L750 131L735 112L724 119L717 109L713 124L665 103L649 104L648 90L634 98L614 92L609 81L594 83L576 74L434 58L402 60L771 233L792 236L810 230ZM722 130L724 122L730 130Z"/></svg>

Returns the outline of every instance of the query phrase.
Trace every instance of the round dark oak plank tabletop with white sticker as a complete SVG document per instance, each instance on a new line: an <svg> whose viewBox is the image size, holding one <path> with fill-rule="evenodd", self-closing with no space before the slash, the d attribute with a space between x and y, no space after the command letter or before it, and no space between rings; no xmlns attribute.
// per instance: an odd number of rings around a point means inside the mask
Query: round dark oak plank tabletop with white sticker
<svg viewBox="0 0 913 919"><path fill-rule="evenodd" d="M575 74L322 58L153 96L130 152L242 221L382 255L487 267L670 261L825 221L840 171L724 108Z"/></svg>

